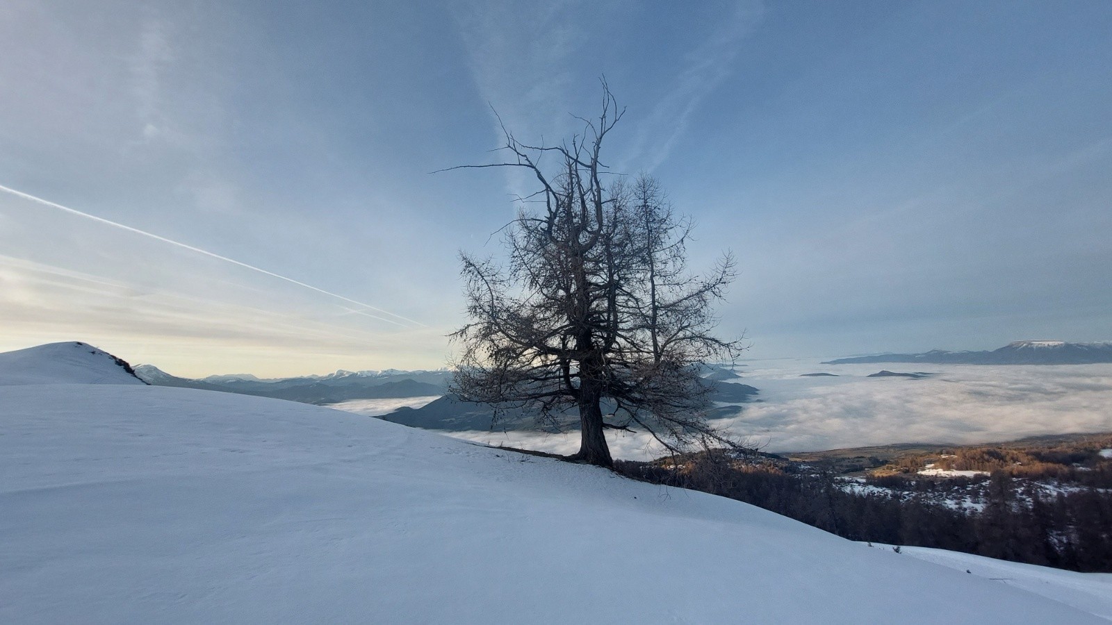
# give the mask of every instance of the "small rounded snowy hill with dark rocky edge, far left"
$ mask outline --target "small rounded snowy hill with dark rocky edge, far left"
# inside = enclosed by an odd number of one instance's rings
[[[0,354],[0,386],[24,384],[146,384],[123,360],[76,341]]]

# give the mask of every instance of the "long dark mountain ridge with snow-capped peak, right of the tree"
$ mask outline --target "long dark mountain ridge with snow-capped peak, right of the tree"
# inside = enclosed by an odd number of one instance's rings
[[[992,351],[945,351],[881,354],[827,360],[824,365],[868,363],[929,363],[936,365],[1091,365],[1112,363],[1112,341],[1066,343],[1063,340],[1017,340]]]

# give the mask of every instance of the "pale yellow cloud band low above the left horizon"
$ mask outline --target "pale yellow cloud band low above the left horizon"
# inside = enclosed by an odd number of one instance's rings
[[[182,375],[291,375],[407,366],[405,359],[411,367],[429,366],[443,359],[441,329],[374,331],[342,314],[252,306],[222,297],[218,282],[210,287],[214,297],[170,292],[0,256],[6,323],[0,350],[85,340]],[[197,355],[203,355],[206,369],[196,368]],[[261,370],[260,363],[268,361],[274,370]]]

